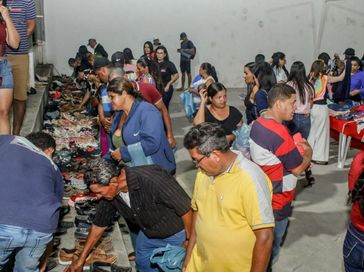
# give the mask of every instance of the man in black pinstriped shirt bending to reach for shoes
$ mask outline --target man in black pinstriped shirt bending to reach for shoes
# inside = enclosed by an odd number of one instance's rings
[[[110,179],[109,185],[93,184],[90,189],[102,200],[86,244],[66,272],[80,271],[116,214],[140,228],[135,250],[139,271],[151,271],[150,256],[154,249],[167,244],[188,245],[191,200],[173,176],[161,167],[126,167],[119,176]]]

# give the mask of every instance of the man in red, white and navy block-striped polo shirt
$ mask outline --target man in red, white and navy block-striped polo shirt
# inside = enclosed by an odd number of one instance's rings
[[[250,133],[252,160],[258,164],[273,185],[273,213],[275,219],[271,264],[279,254],[286,232],[297,177],[311,162],[312,149],[305,141],[298,143],[301,155],[287,127],[282,123],[292,120],[295,111],[295,90],[285,84],[275,85],[268,93],[268,110],[253,124]]]

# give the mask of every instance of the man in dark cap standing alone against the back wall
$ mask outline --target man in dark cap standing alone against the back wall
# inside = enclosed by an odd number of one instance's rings
[[[185,87],[185,79],[186,73],[188,77],[188,86],[191,85],[192,76],[191,76],[191,60],[196,55],[196,47],[194,46],[193,42],[187,38],[187,34],[182,32],[180,34],[181,48],[177,49],[177,52],[181,54],[181,74],[182,74],[182,83],[180,90],[183,90]]]

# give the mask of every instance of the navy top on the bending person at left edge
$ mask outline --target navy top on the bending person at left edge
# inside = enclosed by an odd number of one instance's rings
[[[0,224],[44,233],[57,229],[63,181],[58,167],[19,136],[0,136]]]

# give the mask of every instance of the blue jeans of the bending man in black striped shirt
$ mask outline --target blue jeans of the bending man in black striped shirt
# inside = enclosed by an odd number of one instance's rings
[[[165,247],[167,244],[181,246],[186,240],[186,232],[182,230],[164,239],[150,239],[142,231],[139,231],[136,240],[136,264],[140,272],[156,272],[157,267],[150,264],[150,256],[156,248]]]

